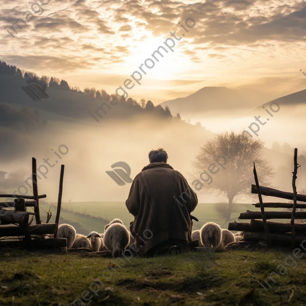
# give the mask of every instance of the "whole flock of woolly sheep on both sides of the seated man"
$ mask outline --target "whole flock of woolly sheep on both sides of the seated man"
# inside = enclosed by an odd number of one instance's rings
[[[110,250],[113,258],[119,257],[126,247],[135,242],[135,238],[120,219],[114,219],[107,224],[104,233],[91,232],[88,236],[77,234],[70,224],[61,224],[58,226],[57,237],[67,238],[68,248],[90,248],[95,252]],[[205,246],[211,252],[242,238],[241,232],[234,235],[214,222],[208,222],[200,230],[193,231],[191,237],[192,241],[198,240],[199,246]]]

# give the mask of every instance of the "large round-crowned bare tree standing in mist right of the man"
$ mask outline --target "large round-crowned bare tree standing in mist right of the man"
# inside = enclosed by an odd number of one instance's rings
[[[233,131],[218,134],[200,148],[193,162],[193,183],[204,187],[202,192],[217,191],[228,198],[227,207],[224,204],[215,207],[226,222],[231,219],[234,197],[250,193],[254,183],[253,162],[260,185],[270,186],[275,173],[271,164],[263,158],[263,148],[263,141],[248,135],[241,138]]]

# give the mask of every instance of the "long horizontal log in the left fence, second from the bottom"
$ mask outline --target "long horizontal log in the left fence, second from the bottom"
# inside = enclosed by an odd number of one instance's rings
[[[19,226],[0,226],[0,237],[24,236],[25,231],[30,235],[54,234],[55,228],[55,223],[30,225],[26,230]]]

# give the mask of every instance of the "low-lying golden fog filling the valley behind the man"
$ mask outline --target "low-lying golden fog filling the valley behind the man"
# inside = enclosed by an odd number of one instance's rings
[[[19,147],[17,145],[20,150],[19,158],[10,158],[8,150],[6,160],[1,160],[0,171],[8,172],[9,180],[0,183],[0,190],[13,192],[19,185],[25,185],[24,180],[31,174],[31,158],[35,157],[38,167],[45,165],[48,169],[41,167],[42,172],[48,171],[47,178],[38,173],[42,177],[38,181],[39,194],[46,193],[47,201],[57,201],[61,163],[65,164],[63,201],[125,201],[131,184],[119,186],[105,171],[112,170],[113,163],[123,161],[131,167],[133,179],[149,163],[148,152],[158,147],[167,151],[170,165],[180,171],[191,185],[192,180],[188,173],[192,171],[191,162],[198,154],[199,148],[215,136],[213,133],[231,130],[240,132],[243,128],[248,129],[250,123],[256,122],[254,116],[262,116],[262,122],[269,118],[264,110],[253,110],[253,113],[253,117],[243,118],[235,118],[233,114],[228,117],[224,114],[210,114],[188,118],[192,124],[200,121],[205,128],[196,128],[175,120],[161,121],[151,118],[121,121],[106,118],[100,122],[92,119],[86,124],[48,121],[46,129],[32,133],[27,139],[28,151],[24,148],[25,144]],[[269,149],[275,141],[279,144],[287,142],[291,147],[297,147],[298,153],[302,153],[302,150],[306,150],[305,114],[305,106],[281,106],[265,125],[259,124],[258,139],[265,141]],[[60,145],[69,149],[67,154],[61,154],[62,159],[54,154],[54,151],[59,153]],[[66,152],[65,147],[61,147],[61,150]],[[267,158],[277,172],[273,186],[291,191],[293,152],[269,152]],[[52,167],[43,162],[43,159],[47,158]],[[287,165],[283,165],[284,161]],[[288,169],[284,170],[283,166]],[[298,170],[297,189],[305,188],[306,185],[305,181],[301,181],[301,177],[299,180],[299,172],[305,171],[304,167],[306,168],[306,164],[301,165]],[[219,175],[222,175],[222,172]],[[29,190],[28,195],[30,194],[32,192]],[[224,198],[214,194],[199,194],[199,200],[219,202]],[[250,201],[241,198],[240,202],[244,200]]]

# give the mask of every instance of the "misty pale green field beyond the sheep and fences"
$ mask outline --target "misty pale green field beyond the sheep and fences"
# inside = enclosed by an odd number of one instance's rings
[[[56,205],[55,203],[51,203]],[[40,204],[44,210],[48,211],[51,204]],[[214,209],[215,203],[199,203],[192,215],[199,219],[199,222],[193,222],[193,230],[199,230],[206,222],[215,222],[220,226],[226,228],[225,219],[220,219]],[[55,218],[56,206],[51,206],[51,211]],[[114,218],[119,218],[123,221],[125,226],[129,227],[130,222],[134,217],[129,213],[125,207],[125,202],[69,202],[62,203],[62,218],[70,220],[70,222],[80,223],[90,233],[91,231],[101,232],[104,226]],[[259,208],[254,207],[252,204],[237,204],[235,211],[232,213],[232,221],[238,220],[241,212],[247,210],[257,211]],[[273,211],[275,208],[265,208],[265,211]],[[78,212],[75,214],[75,212]],[[41,213],[42,214],[42,213]],[[46,215],[46,213],[44,213]],[[98,217],[98,218],[91,218]],[[102,219],[99,219],[102,218]],[[60,220],[61,221],[61,220]],[[287,220],[273,220],[280,222],[287,222]],[[242,222],[249,222],[249,220],[242,220]],[[102,231],[102,232],[103,232]],[[81,233],[81,232],[80,232]],[[84,233],[86,234],[86,233]]]

